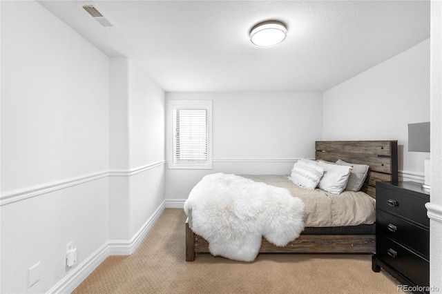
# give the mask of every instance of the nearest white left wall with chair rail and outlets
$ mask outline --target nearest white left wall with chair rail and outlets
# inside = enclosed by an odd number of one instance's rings
[[[2,293],[49,291],[108,240],[108,72],[108,57],[39,3],[2,1]]]

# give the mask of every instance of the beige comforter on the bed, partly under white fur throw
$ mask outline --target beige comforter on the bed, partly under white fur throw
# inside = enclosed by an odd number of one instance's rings
[[[287,188],[291,195],[305,204],[305,226],[357,226],[373,224],[375,200],[363,192],[343,192],[340,195],[323,190],[306,190],[296,186],[287,175],[242,175],[255,182]]]

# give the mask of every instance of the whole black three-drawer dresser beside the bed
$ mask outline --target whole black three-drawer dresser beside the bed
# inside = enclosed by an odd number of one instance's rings
[[[376,182],[376,254],[372,269],[383,268],[414,293],[430,286],[430,191],[414,182]]]

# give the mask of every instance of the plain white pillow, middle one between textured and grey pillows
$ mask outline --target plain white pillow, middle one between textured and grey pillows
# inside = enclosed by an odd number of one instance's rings
[[[324,161],[318,161],[318,166],[322,166],[325,170],[318,188],[332,194],[343,193],[353,168],[351,166],[327,164]]]

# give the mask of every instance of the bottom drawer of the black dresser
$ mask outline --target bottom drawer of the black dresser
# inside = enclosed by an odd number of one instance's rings
[[[430,262],[383,235],[376,235],[376,255],[419,286],[430,286]]]

